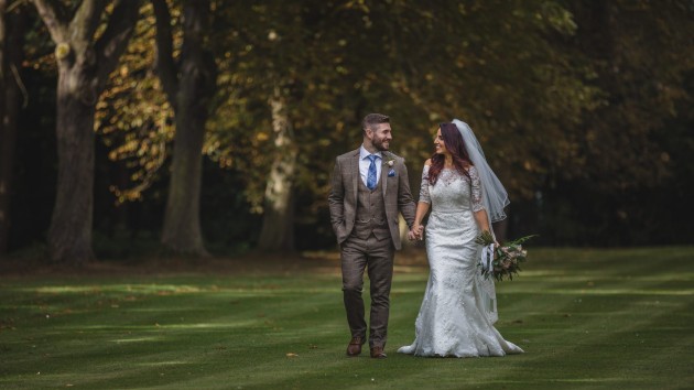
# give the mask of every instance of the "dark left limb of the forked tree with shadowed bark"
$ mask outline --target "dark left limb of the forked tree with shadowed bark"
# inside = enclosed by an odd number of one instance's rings
[[[178,69],[173,58],[173,36],[171,32],[171,13],[166,0],[152,0],[156,19],[156,72],[169,102],[176,110],[178,93]]]

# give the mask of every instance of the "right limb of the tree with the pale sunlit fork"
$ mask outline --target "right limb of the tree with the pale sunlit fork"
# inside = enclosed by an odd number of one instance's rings
[[[128,47],[128,42],[130,42],[130,37],[134,32],[139,11],[140,0],[119,1],[109,18],[106,31],[95,44],[99,91],[104,89],[110,73]]]

